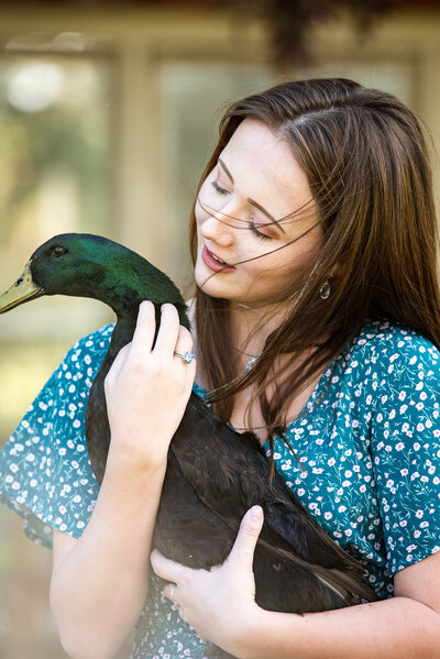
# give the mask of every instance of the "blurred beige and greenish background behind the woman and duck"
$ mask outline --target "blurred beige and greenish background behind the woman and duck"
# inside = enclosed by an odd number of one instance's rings
[[[43,241],[85,231],[189,293],[187,218],[222,108],[316,76],[406,102],[439,189],[439,0],[0,1],[0,289]],[[0,446],[69,345],[111,320],[62,297],[1,317]],[[50,570],[51,552],[0,509],[0,659],[66,657]]]

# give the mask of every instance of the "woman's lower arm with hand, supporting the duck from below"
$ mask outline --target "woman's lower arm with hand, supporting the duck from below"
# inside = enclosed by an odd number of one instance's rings
[[[395,576],[395,597],[324,613],[273,613],[255,604],[253,552],[261,509],[242,520],[221,567],[191,570],[152,553],[155,572],[175,583],[182,617],[240,659],[440,658],[440,552]]]

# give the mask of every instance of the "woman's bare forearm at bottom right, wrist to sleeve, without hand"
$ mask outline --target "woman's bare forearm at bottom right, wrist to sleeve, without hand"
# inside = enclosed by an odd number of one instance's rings
[[[262,612],[241,659],[438,659],[440,553],[402,572],[395,597],[305,616]],[[250,638],[250,637],[249,637]],[[274,648],[274,651],[268,649]]]

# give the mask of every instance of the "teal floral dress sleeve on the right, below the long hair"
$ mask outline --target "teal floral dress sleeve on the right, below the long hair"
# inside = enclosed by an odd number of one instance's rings
[[[377,360],[371,448],[393,575],[440,550],[440,354],[403,330]]]

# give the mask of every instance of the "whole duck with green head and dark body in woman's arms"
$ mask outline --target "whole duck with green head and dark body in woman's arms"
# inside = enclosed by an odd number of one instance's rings
[[[103,383],[131,341],[139,305],[173,304],[189,329],[186,304],[170,278],[132,250],[88,233],[55,235],[34,251],[23,274],[0,296],[0,314],[44,295],[89,297],[116,314],[110,347],[90,388],[85,432],[90,464],[102,483],[110,446]],[[372,602],[361,562],[309,515],[283,477],[271,473],[257,437],[220,420],[193,392],[169,444],[153,546],[185,565],[224,561],[245,512],[258,504],[264,525],[255,548],[255,601],[266,609],[314,613]],[[212,646],[216,659],[230,657]]]

